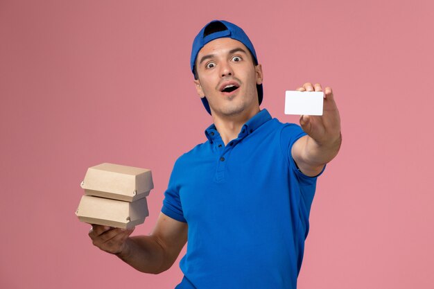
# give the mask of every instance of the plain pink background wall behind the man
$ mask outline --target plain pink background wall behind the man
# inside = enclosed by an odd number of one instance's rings
[[[333,87],[342,150],[318,181],[299,288],[433,288],[433,2],[0,1],[0,288],[173,288],[94,247],[86,169],[152,168],[148,234],[175,159],[211,123],[189,71],[211,19],[245,29],[262,107]],[[182,252],[182,255],[184,252]],[[179,261],[179,260],[178,260]]]

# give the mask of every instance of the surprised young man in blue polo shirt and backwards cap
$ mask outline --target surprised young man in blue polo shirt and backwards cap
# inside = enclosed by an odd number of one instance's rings
[[[316,179],[340,148],[331,88],[324,114],[280,123],[263,98],[248,36],[211,21],[193,42],[191,70],[214,124],[177,159],[150,236],[94,225],[94,245],[142,272],[163,272],[184,247],[177,288],[296,288]],[[322,91],[306,82],[298,90]]]

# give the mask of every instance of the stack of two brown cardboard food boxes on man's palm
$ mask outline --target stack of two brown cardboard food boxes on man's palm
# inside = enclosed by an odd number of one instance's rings
[[[146,168],[108,163],[92,166],[81,187],[85,195],[76,215],[82,222],[130,229],[149,215],[146,196],[154,184]]]

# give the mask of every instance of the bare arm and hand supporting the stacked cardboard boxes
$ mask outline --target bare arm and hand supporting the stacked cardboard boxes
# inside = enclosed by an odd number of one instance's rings
[[[158,274],[171,268],[187,240],[187,225],[160,213],[149,236],[133,236],[125,230],[92,225],[89,237],[96,247],[116,254],[125,263],[146,273]]]

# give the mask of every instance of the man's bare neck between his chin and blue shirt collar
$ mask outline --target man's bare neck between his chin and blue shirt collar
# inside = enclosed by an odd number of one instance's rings
[[[232,141],[232,139],[236,139],[238,137],[243,125],[249,119],[252,119],[252,117],[255,116],[259,111],[259,107],[257,107],[257,110],[252,110],[245,114],[239,114],[236,116],[213,116],[214,125],[216,125],[216,129],[220,134],[223,143],[225,143],[225,146],[227,143],[229,143],[229,141]]]

